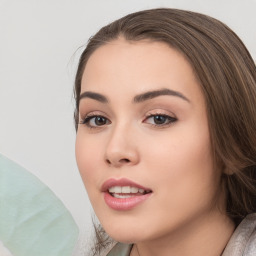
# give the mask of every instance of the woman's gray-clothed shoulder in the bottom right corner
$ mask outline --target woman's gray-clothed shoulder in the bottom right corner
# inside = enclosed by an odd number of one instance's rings
[[[256,213],[249,214],[231,236],[223,256],[256,255]]]

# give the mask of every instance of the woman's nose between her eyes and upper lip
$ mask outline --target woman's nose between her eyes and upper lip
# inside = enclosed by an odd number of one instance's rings
[[[105,152],[105,161],[109,166],[120,168],[139,162],[135,133],[131,129],[117,127],[110,135]]]

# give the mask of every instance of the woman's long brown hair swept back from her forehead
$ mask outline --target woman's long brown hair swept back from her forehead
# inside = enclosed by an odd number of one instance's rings
[[[213,154],[223,168],[227,213],[256,211],[256,67],[237,35],[220,21],[190,11],[152,9],[101,28],[81,55],[75,78],[78,126],[81,78],[91,54],[118,37],[165,42],[190,62],[207,107]]]

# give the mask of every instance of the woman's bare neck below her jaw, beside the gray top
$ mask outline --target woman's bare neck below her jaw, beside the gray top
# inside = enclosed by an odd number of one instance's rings
[[[220,256],[233,232],[234,223],[227,216],[201,216],[178,231],[136,243],[131,256]]]

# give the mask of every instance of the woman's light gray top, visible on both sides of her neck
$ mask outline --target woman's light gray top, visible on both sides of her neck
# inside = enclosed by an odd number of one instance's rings
[[[107,256],[129,256],[131,249],[132,245],[117,243]],[[239,224],[222,256],[256,256],[256,213]]]

